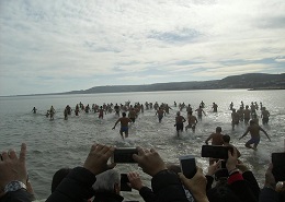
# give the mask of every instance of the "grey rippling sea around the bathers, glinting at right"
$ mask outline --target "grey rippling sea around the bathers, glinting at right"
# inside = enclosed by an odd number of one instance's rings
[[[174,120],[178,104],[191,105],[198,108],[201,102],[205,103],[206,116],[196,126],[196,132],[184,131],[176,135]],[[247,130],[240,122],[235,130],[231,129],[232,102],[235,108],[251,102],[262,103],[270,111],[267,126],[261,127],[271,136],[271,142],[261,132],[261,142],[258,151],[244,147],[250,139],[248,134],[239,138]],[[75,110],[77,104],[130,104],[164,103],[172,109],[159,123],[153,109],[139,114],[135,123],[129,128],[129,138],[122,140],[119,126],[112,130],[117,117],[114,112],[106,114],[104,119],[98,114],[81,111],[75,116],[73,111],[68,120],[64,119],[64,109],[67,105]],[[285,91],[248,91],[248,90],[198,90],[198,91],[163,91],[163,92],[132,92],[132,93],[102,93],[102,94],[72,94],[72,95],[41,95],[41,96],[10,96],[0,97],[0,151],[14,148],[18,153],[21,143],[27,145],[26,166],[36,199],[44,201],[50,194],[53,175],[60,168],[82,166],[93,143],[115,145],[117,147],[155,148],[167,164],[178,164],[179,157],[194,155],[197,166],[207,171],[208,158],[201,157],[201,148],[208,135],[216,127],[221,127],[224,134],[231,136],[231,143],[241,152],[240,159],[254,174],[260,186],[264,182],[264,174],[271,162],[271,153],[283,152],[285,148]],[[218,111],[213,112],[213,103],[218,105]],[[54,120],[45,116],[54,106],[56,114]],[[36,114],[32,112],[37,108]],[[186,110],[181,111],[186,117]],[[196,115],[196,114],[195,114]],[[260,117],[261,111],[258,110]],[[118,164],[119,173],[137,171],[142,182],[150,186],[151,177],[144,174],[137,164]],[[142,201],[136,190],[122,192],[127,200]]]

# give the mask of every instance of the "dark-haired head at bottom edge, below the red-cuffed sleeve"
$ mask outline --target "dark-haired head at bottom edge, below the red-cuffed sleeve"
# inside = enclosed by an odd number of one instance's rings
[[[207,191],[210,202],[241,202],[228,186],[218,186]]]

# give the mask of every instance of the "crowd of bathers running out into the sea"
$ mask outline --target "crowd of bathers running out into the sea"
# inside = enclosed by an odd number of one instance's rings
[[[197,109],[193,110],[191,104],[180,103],[176,104],[174,102],[173,105],[175,108],[179,108],[179,111],[176,111],[176,116],[174,119],[174,127],[176,128],[176,135],[180,136],[181,132],[185,129],[191,129],[193,133],[195,133],[196,124],[198,121],[202,121],[203,116],[206,116],[206,112],[204,111],[205,103],[202,100],[200,103],[200,106]],[[216,103],[213,103],[212,109],[213,112],[217,112],[218,105]],[[181,115],[181,111],[186,110],[186,118]],[[251,102],[251,105],[246,105],[243,102],[240,103],[239,109],[236,110],[233,107],[233,103],[231,102],[229,105],[229,110],[231,110],[231,126],[232,130],[235,130],[235,127],[239,123],[243,122],[248,128],[246,132],[241,135],[240,139],[246,136],[248,133],[250,133],[251,139],[246,143],[246,147],[256,150],[258,144],[260,143],[260,132],[263,132],[267,139],[271,141],[269,134],[266,131],[260,127],[259,124],[259,116],[258,110],[261,109],[261,119],[263,124],[269,123],[269,117],[270,112],[267,109],[260,103],[260,106],[256,102]],[[36,112],[36,108],[33,108],[33,112]],[[102,106],[99,106],[96,104],[92,104],[92,107],[90,108],[89,104],[83,105],[81,102],[76,105],[75,108],[75,115],[79,116],[79,112],[86,112],[89,114],[93,111],[94,114],[98,114],[99,119],[103,119],[104,115],[115,112],[115,116],[118,117],[116,120],[114,127],[112,129],[115,129],[118,123],[121,123],[119,134],[122,139],[128,138],[128,129],[129,123],[135,123],[136,119],[138,118],[139,114],[144,114],[145,110],[155,110],[156,116],[158,117],[158,121],[161,122],[162,118],[170,112],[170,110],[173,110],[168,104],[161,103],[158,104],[156,102],[155,104],[146,102],[144,105],[140,103],[135,103],[134,105],[130,104],[130,102],[125,102],[125,104],[103,104]],[[64,110],[65,119],[68,119],[68,116],[71,115],[71,107],[69,105],[66,106]],[[50,120],[54,119],[56,110],[52,106],[49,110],[47,110],[46,116],[50,118]],[[122,117],[121,117],[122,112]],[[197,117],[193,115],[193,112],[197,114]],[[184,122],[187,122],[184,127]],[[215,141],[214,141],[215,142]]]

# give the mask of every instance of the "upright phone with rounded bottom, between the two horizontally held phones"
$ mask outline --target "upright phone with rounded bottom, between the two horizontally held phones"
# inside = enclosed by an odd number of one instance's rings
[[[193,178],[197,171],[195,157],[193,155],[180,156],[179,161],[183,175],[189,179]]]

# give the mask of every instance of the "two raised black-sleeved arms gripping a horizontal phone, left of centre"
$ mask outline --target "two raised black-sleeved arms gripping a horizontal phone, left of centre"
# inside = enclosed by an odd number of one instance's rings
[[[157,201],[187,202],[178,175],[167,169],[159,154],[152,148],[137,150],[138,154],[134,154],[133,157],[142,170],[152,177],[151,187]],[[90,199],[93,195],[92,185],[96,181],[96,175],[110,168],[106,163],[113,152],[113,146],[92,145],[83,167],[73,168],[46,202],[78,202]],[[111,165],[112,168],[114,166]]]

